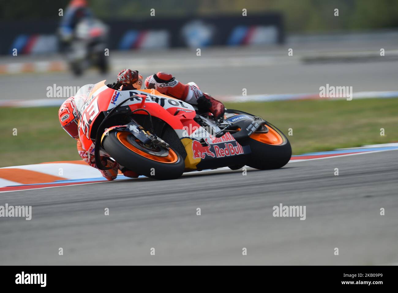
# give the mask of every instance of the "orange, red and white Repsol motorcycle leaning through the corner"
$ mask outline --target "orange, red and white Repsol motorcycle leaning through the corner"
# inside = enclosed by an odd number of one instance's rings
[[[80,140],[99,169],[109,169],[103,157],[140,175],[176,179],[184,171],[226,166],[276,169],[291,157],[286,136],[263,118],[228,109],[216,120],[157,90],[121,88],[101,81],[76,93],[87,97]]]

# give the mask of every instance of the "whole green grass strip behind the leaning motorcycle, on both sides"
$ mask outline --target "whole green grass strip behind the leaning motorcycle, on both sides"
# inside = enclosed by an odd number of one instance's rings
[[[293,154],[398,141],[398,99],[227,103],[262,116],[288,136]],[[0,108],[0,167],[80,159],[58,108]],[[17,136],[13,136],[13,129]],[[385,136],[380,136],[384,128]]]

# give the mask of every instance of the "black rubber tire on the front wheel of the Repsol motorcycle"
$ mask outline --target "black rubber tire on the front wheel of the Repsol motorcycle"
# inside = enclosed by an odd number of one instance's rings
[[[184,172],[184,160],[178,151],[175,151],[172,147],[170,147],[171,151],[169,151],[169,153],[172,156],[176,156],[176,161],[169,163],[156,161],[131,150],[129,147],[137,149],[133,144],[126,147],[123,144],[126,143],[126,141],[122,143],[117,135],[119,132],[120,131],[109,132],[109,135],[105,136],[103,139],[103,147],[120,165],[140,175],[160,180],[176,179]],[[134,138],[133,134],[126,134],[126,136],[128,140]]]

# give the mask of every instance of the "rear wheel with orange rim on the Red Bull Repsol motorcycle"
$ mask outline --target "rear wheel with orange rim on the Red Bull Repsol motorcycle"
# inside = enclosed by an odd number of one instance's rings
[[[252,168],[266,170],[278,169],[289,162],[292,148],[286,136],[275,126],[267,122],[267,133],[254,133],[239,142],[242,146],[250,146],[247,165]]]

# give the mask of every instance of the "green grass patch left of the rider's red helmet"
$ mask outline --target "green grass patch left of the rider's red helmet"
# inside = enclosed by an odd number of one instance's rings
[[[0,108],[0,167],[80,159],[76,141],[60,126],[58,109]]]

